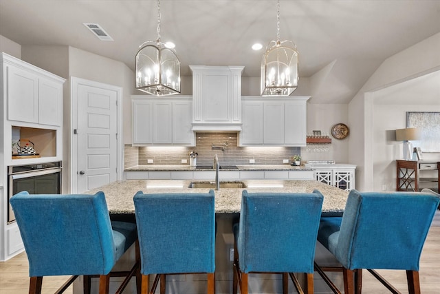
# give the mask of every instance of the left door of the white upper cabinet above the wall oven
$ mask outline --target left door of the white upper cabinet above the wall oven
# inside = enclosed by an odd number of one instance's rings
[[[38,123],[38,76],[10,65],[7,76],[8,120]]]

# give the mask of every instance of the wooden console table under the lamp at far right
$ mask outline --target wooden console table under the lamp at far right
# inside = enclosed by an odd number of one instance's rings
[[[429,188],[439,192],[440,161],[396,160],[396,172],[396,191]]]

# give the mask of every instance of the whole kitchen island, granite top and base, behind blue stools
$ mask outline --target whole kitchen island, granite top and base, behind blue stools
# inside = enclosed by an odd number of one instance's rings
[[[107,207],[112,218],[124,218],[134,220],[133,196],[137,191],[144,193],[206,193],[209,188],[189,188],[190,183],[195,180],[122,180],[111,182],[97,189],[87,191],[96,193],[103,191],[107,200]],[[199,182],[199,181],[198,181]],[[209,182],[203,180],[203,182]],[[229,181],[231,182],[231,181]],[[279,193],[310,193],[318,189],[324,196],[322,213],[329,215],[340,215],[344,211],[348,191],[326,185],[316,180],[241,180],[246,187],[243,188],[221,188],[214,190],[215,212],[217,222],[217,235],[215,240],[215,266],[216,266],[216,293],[232,293],[232,249],[234,248],[234,235],[232,224],[239,219],[241,208],[241,193],[244,189],[252,192],[279,192]],[[179,242],[179,240],[176,240]],[[164,244],[166,246],[166,244]],[[322,249],[317,247],[317,251]],[[318,255],[322,253],[317,252]],[[129,249],[129,254],[122,258],[123,265],[127,267],[134,260],[134,250]],[[326,256],[325,260],[329,260]],[[118,266],[118,265],[117,265]],[[256,277],[256,276],[255,276]],[[302,276],[300,276],[300,279]],[[170,275],[167,277],[167,289],[173,289],[173,293],[198,294],[206,293],[206,275]],[[315,289],[328,291],[327,285],[319,275],[315,275]],[[281,275],[259,275],[250,277],[250,293],[281,293]],[[111,282],[111,288],[117,283]],[[81,284],[74,286],[74,294],[81,293]],[[97,288],[98,283],[92,283]],[[292,287],[292,288],[290,288]],[[289,293],[292,293],[293,286],[289,283]],[[135,283],[131,281],[126,293],[136,293]]]

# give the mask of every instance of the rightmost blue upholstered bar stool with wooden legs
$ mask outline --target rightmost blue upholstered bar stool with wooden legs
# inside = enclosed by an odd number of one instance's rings
[[[345,293],[361,293],[362,269],[392,293],[399,291],[374,269],[406,270],[409,293],[420,293],[420,254],[439,201],[432,193],[351,190],[342,218],[322,218],[318,241],[342,264]],[[324,273],[337,267],[316,269],[338,293]]]

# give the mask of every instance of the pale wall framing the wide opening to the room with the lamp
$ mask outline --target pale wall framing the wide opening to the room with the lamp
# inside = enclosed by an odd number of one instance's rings
[[[440,33],[403,50],[380,65],[349,103],[349,161],[358,165],[356,188],[373,191],[374,99],[373,92],[440,70]],[[393,160],[393,158],[389,158]]]

